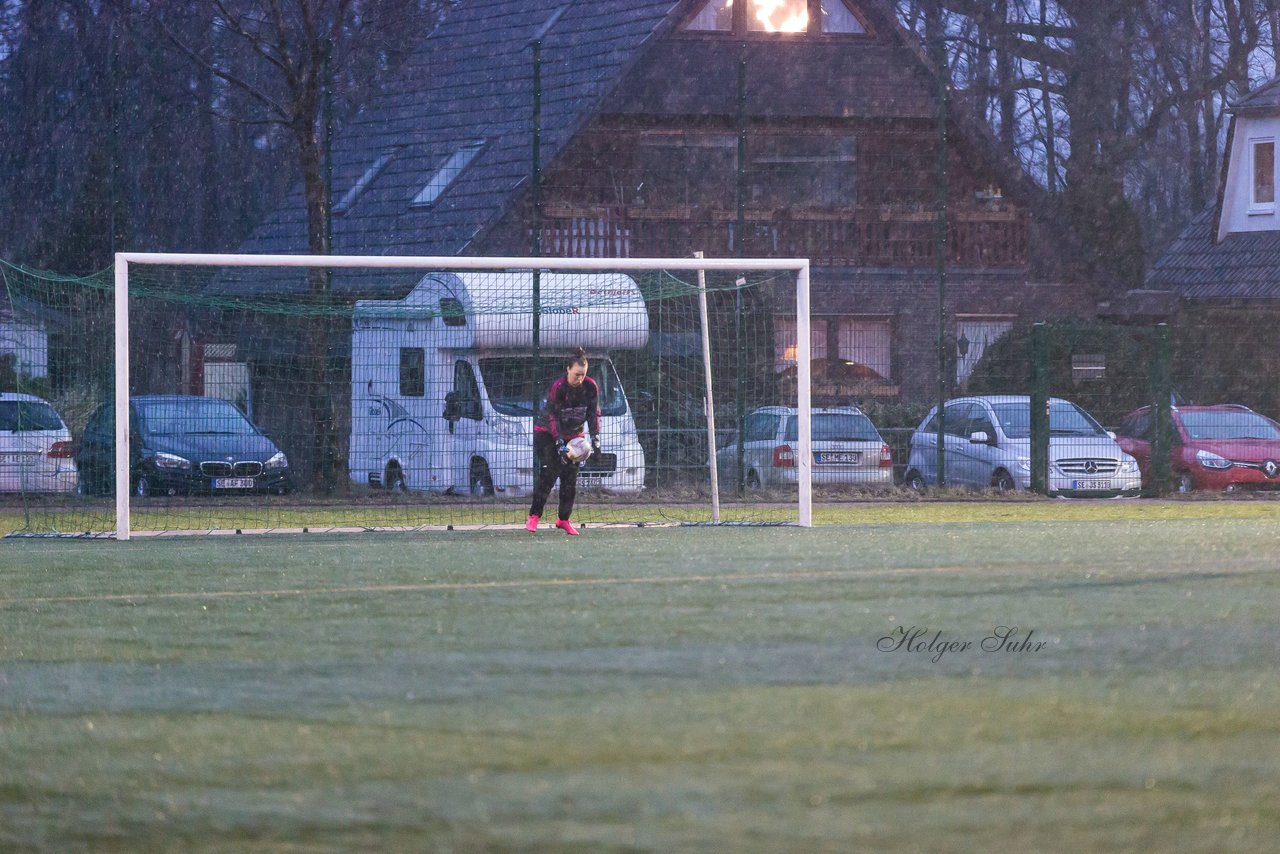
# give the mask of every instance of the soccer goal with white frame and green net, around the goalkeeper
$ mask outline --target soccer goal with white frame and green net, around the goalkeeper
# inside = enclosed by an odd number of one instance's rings
[[[575,522],[812,524],[805,260],[124,252],[26,287],[78,401],[74,494],[27,533],[520,528],[579,347]]]

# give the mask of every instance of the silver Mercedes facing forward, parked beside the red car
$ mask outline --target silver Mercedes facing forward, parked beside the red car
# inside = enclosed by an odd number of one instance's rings
[[[1138,461],[1115,437],[1070,401],[1048,403],[1048,490],[1053,495],[1137,495],[1142,490]],[[961,397],[942,411],[946,439],[946,485],[1029,489],[1030,398],[1025,394]],[[915,489],[938,483],[937,407],[911,435],[904,483]]]

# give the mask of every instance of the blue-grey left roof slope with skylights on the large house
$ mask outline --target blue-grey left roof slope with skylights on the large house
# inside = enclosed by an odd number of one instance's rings
[[[396,156],[346,216],[333,218],[333,251],[349,255],[458,255],[498,220],[530,172],[532,51],[529,41],[568,5],[543,41],[543,164],[550,163],[580,123],[617,83],[622,70],[678,5],[677,0],[467,0],[449,13],[406,60],[397,83],[361,110],[334,142],[334,198],[378,155]],[[461,145],[488,145],[428,210],[408,201]],[[246,241],[242,252],[305,254],[301,188]],[[407,274],[381,274],[378,284],[340,280],[334,291],[407,291]],[[264,288],[260,271],[229,270],[223,293],[301,291],[282,274]],[[416,278],[416,277],[411,277]]]

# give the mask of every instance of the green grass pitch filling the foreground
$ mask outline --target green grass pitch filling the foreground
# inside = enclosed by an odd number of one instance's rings
[[[0,850],[1277,850],[1280,503],[818,519],[3,542]]]

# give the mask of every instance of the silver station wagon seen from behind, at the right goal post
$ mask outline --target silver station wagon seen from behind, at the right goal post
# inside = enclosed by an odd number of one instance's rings
[[[879,430],[852,406],[810,410],[813,483],[890,484],[893,461]],[[742,469],[748,487],[796,483],[799,416],[795,407],[764,406],[746,416]],[[737,479],[737,442],[719,448],[722,480]]]

